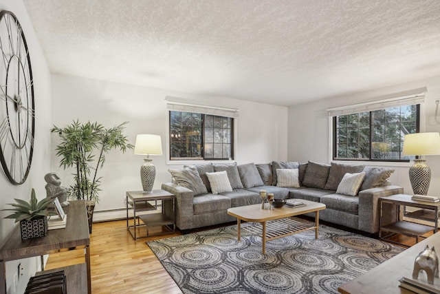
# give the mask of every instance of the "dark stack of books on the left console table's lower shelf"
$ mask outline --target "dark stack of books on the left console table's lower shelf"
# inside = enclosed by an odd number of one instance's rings
[[[31,277],[26,287],[25,294],[66,294],[66,277],[64,271],[47,273]]]

